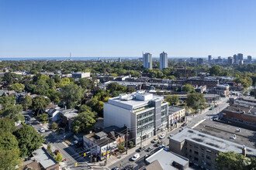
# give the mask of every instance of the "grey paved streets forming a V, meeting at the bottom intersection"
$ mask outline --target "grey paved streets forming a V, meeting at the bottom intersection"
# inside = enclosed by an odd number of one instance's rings
[[[208,110],[208,109],[204,110],[202,111],[202,114],[196,114],[195,116],[188,116],[186,118],[187,127],[194,128],[195,126],[200,124],[202,121],[206,119],[211,119],[213,116],[216,116],[221,110],[223,110],[223,108],[227,107],[228,105],[227,100],[228,100],[228,97],[220,98],[220,100],[216,103],[216,104],[220,104],[219,107],[215,107],[213,110]],[[36,118],[32,116],[31,112],[28,111],[23,114],[25,117],[30,117],[29,123],[32,124],[32,126],[36,129],[36,131],[39,130],[40,128],[44,128],[46,130],[46,132],[44,132],[43,135],[45,135],[47,142],[50,142],[50,144],[52,145],[52,150],[54,151],[55,149],[57,149],[61,151],[61,155],[63,156],[63,158],[67,159],[67,161],[61,162],[61,167],[66,167],[67,169],[89,169],[90,168],[87,162],[85,161],[85,158],[82,158],[81,155],[78,154],[78,152],[74,151],[74,148],[64,143],[64,141],[62,140],[63,135],[62,136],[56,135],[54,132],[48,130],[47,124],[40,124],[36,120]],[[185,127],[182,127],[182,128],[185,128]],[[162,139],[162,141],[163,141],[163,145],[165,145],[166,148],[168,148],[168,144],[169,144],[169,141],[168,141],[169,134],[177,134],[182,128],[175,128],[171,131],[163,132],[163,134],[166,134],[166,137]],[[150,143],[152,139],[153,138],[150,138],[147,141],[144,141],[142,145],[144,145],[146,149],[148,147],[154,147],[154,144]],[[107,160],[107,166],[99,166],[99,163],[97,163],[95,165],[90,164],[92,165],[91,168],[111,169],[114,167],[119,167],[119,165],[121,164],[123,167],[125,167],[126,165],[133,165],[134,169],[138,169],[144,165],[145,155],[150,154],[146,151],[141,151],[140,158],[136,162],[131,161],[130,158],[132,158],[133,155],[137,153],[136,150],[139,147],[140,145],[128,150],[128,155],[126,155],[126,152],[123,153],[121,155],[121,158],[116,158],[114,156],[111,156]],[[157,149],[158,149],[157,147],[154,147],[154,150],[151,152],[157,151]],[[78,162],[77,167],[75,167],[76,162]],[[100,162],[100,164],[103,164],[103,162]]]

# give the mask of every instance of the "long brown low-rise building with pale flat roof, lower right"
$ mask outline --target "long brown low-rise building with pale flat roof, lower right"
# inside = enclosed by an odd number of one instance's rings
[[[238,154],[245,151],[243,145],[190,128],[185,128],[175,134],[169,142],[170,151],[189,158],[189,161],[194,165],[206,169],[216,169],[216,155],[220,151],[234,151]],[[256,155],[256,149],[254,148],[246,148],[245,152],[245,155]]]

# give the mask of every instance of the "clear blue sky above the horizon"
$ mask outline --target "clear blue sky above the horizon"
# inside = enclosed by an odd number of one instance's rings
[[[256,57],[255,0],[0,0],[0,57]]]

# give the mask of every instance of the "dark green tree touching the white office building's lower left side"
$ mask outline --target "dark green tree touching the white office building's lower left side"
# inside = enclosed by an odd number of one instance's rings
[[[74,121],[71,124],[72,131],[76,134],[78,132],[88,132],[94,128],[96,112],[85,111],[78,114],[78,117],[74,117]]]

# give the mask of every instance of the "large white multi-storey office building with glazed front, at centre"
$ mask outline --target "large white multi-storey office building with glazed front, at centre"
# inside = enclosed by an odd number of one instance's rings
[[[104,104],[104,126],[126,125],[135,145],[168,127],[168,103],[164,97],[145,93],[120,94]]]

